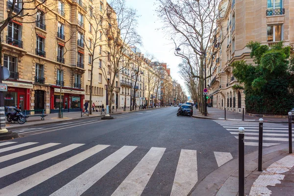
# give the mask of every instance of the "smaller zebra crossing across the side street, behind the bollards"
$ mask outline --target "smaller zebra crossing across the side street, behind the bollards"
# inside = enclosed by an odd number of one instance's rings
[[[216,120],[226,130],[228,130],[235,138],[238,139],[238,128],[245,128],[245,146],[258,146],[259,123],[258,122],[228,122]],[[288,124],[282,125],[277,123],[263,123],[263,146],[270,147],[282,143],[287,143]]]

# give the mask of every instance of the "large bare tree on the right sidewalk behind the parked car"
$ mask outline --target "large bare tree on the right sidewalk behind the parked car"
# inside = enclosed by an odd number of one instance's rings
[[[218,6],[221,0],[158,0],[157,12],[164,22],[164,27],[171,29],[171,35],[175,44],[175,55],[186,60],[186,64],[193,70],[191,55],[196,56],[198,73],[191,73],[198,78],[198,88],[206,87],[206,54],[211,44],[217,43],[216,28],[220,16]],[[222,27],[220,27],[222,31]],[[224,34],[224,33],[222,33]],[[223,36],[225,37],[225,36]],[[177,44],[178,43],[178,44]],[[181,47],[181,48],[180,48]],[[218,48],[219,49],[219,48]],[[215,52],[215,51],[213,51]],[[210,72],[211,73],[211,72]],[[206,102],[206,98],[200,96],[201,103]],[[202,112],[206,114],[206,104],[202,104]]]

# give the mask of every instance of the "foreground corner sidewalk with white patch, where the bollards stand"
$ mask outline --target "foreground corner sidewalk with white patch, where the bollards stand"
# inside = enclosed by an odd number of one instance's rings
[[[293,196],[294,154],[288,145],[264,148],[262,172],[258,151],[245,155],[245,196]],[[191,196],[238,196],[239,162],[235,158],[206,176]]]

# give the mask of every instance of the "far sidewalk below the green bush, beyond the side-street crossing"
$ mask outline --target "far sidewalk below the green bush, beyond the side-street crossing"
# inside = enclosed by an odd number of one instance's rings
[[[224,120],[224,110],[220,110],[217,108],[207,107],[207,116],[202,115],[198,109],[194,108],[194,115],[195,118],[201,119],[212,119],[212,120]],[[242,121],[243,114],[235,113],[226,111],[226,120],[229,121]],[[262,118],[264,122],[271,122],[271,123],[288,123],[287,118],[270,118],[270,117],[252,117],[249,115],[244,115],[245,121],[256,121]]]

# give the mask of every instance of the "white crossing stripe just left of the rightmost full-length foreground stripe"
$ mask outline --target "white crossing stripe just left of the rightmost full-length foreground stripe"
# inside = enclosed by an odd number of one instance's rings
[[[166,148],[151,147],[111,196],[140,196]]]

